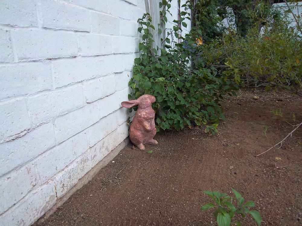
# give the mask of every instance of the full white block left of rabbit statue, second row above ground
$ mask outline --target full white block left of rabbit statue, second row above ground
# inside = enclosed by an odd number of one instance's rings
[[[108,123],[110,122],[110,124]],[[96,124],[89,127],[86,131],[89,147],[94,146],[109,133],[114,131],[117,128],[117,114],[111,113],[106,117],[102,118]]]

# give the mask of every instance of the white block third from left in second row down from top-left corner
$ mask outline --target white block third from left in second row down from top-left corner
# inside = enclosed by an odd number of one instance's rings
[[[96,56],[112,53],[112,37],[108,35],[81,34],[79,35],[80,55]]]

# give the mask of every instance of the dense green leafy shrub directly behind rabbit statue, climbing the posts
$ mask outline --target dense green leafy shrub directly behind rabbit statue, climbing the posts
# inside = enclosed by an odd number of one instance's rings
[[[179,22],[186,27],[183,18],[190,18],[189,14],[182,12],[181,15]],[[150,33],[154,29],[151,22],[149,14],[138,19],[138,31],[143,34],[143,41],[139,44],[141,55],[134,61],[133,77],[129,83],[133,92],[129,99],[143,94],[156,97],[153,108],[158,130],[180,130],[192,123],[217,123],[225,119],[220,102],[237,86],[225,79],[216,67],[205,65],[202,51],[206,48],[196,43],[199,34],[194,32],[183,37],[178,34],[181,28],[175,26],[173,34],[182,42],[170,40],[172,34],[168,33],[165,49],[160,49],[161,54],[157,56]]]

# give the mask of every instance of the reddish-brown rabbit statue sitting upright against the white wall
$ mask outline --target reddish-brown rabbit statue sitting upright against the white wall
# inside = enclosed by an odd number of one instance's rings
[[[156,134],[155,112],[152,108],[154,102],[155,97],[149,94],[140,96],[137,100],[121,102],[121,105],[125,108],[138,105],[138,109],[130,125],[129,137],[131,142],[140,150],[145,150],[144,144],[158,144],[153,139]]]

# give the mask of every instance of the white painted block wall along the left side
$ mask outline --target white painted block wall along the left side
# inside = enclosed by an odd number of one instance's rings
[[[0,1],[0,225],[31,225],[127,144],[120,102],[145,12],[144,0]]]

